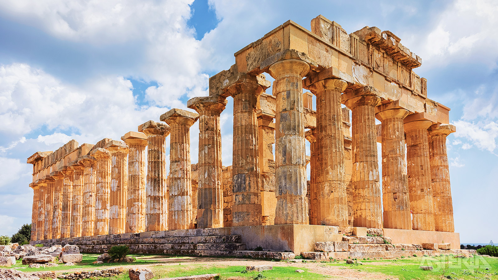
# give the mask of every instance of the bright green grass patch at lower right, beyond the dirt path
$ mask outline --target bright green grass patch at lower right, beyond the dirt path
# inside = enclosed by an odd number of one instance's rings
[[[488,257],[474,257],[459,259],[454,257],[420,257],[411,259],[397,260],[376,260],[361,261],[363,265],[346,265],[345,262],[331,263],[329,266],[347,266],[350,269],[381,273],[389,277],[396,277],[400,280],[432,280],[441,279],[444,273],[444,279],[447,276],[459,280],[475,279],[498,279],[498,259]],[[448,269],[446,269],[448,262]],[[432,266],[433,271],[423,271],[420,266]],[[489,270],[486,270],[488,268]]]

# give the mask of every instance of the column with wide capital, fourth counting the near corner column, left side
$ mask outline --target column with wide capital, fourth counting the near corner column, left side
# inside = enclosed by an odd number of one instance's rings
[[[199,119],[193,112],[171,109],[160,120],[171,128],[169,136],[168,230],[194,227],[192,220],[192,167],[190,127]]]

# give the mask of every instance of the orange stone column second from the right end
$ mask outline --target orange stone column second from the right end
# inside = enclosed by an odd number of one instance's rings
[[[405,118],[406,133],[406,171],[412,229],[434,230],[434,204],[432,201],[431,169],[429,164],[429,143],[427,128],[432,122],[413,114]]]

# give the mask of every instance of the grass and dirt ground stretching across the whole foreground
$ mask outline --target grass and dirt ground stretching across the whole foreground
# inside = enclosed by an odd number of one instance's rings
[[[454,258],[445,257],[407,257],[394,260],[354,260],[363,265],[346,264],[345,260],[309,261],[303,263],[288,263],[256,261],[249,259],[230,258],[193,258],[193,257],[167,257],[152,255],[131,255],[137,259],[136,262],[112,263],[93,265],[98,255],[85,254],[83,263],[77,266],[65,267],[60,265],[55,268],[29,269],[27,266],[16,265],[20,271],[90,271],[95,269],[105,269],[116,266],[133,267],[136,265],[146,266],[154,273],[154,279],[191,276],[201,274],[220,274],[221,279],[245,279],[245,280],[323,280],[323,279],[369,279],[369,280],[498,280],[498,258],[492,257],[471,257]],[[271,264],[273,270],[262,273],[249,272],[241,273],[245,270],[245,265]],[[420,266],[432,266],[433,271],[422,271]],[[295,270],[304,270],[304,273],[296,273]],[[361,275],[361,276],[358,276]],[[127,272],[101,280],[128,280]]]

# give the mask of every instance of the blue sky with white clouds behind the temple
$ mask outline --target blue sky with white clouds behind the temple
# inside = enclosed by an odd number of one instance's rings
[[[207,94],[233,54],[292,19],[318,14],[348,33],[390,30],[422,57],[428,97],[452,110],[448,137],[455,229],[497,239],[498,0],[109,0],[0,2],[0,235],[31,220],[35,151],[120,139]],[[268,77],[269,78],[269,77]],[[232,162],[232,110],[222,114]],[[196,125],[192,162],[197,162]]]

